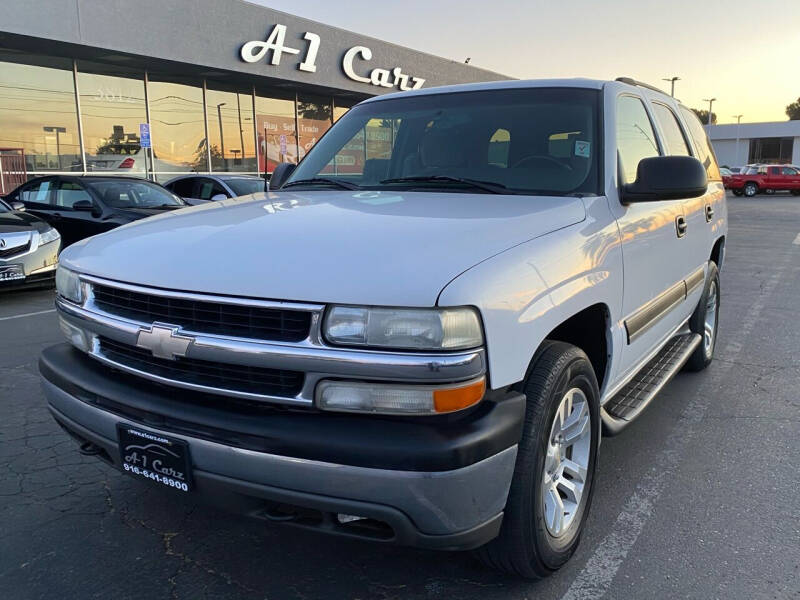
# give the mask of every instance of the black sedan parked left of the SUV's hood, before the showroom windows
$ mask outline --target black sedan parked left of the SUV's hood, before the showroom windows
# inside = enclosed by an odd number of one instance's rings
[[[36,177],[5,197],[21,202],[61,234],[62,247],[125,223],[187,206],[157,183],[137,177]]]

